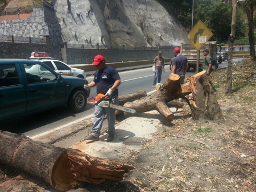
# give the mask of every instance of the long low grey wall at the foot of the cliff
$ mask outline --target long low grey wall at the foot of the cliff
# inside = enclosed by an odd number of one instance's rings
[[[164,58],[174,57],[173,48],[160,49]],[[72,64],[92,64],[96,55],[105,57],[106,62],[152,60],[158,50],[111,50],[111,49],[61,49],[63,61]]]

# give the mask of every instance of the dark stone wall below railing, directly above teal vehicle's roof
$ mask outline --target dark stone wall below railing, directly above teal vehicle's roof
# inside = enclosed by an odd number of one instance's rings
[[[49,52],[51,45],[28,43],[0,43],[0,59],[27,59],[33,51]]]

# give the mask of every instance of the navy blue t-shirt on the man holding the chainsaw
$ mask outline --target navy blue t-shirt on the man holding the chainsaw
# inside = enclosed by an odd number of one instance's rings
[[[114,82],[120,80],[120,76],[112,66],[106,65],[103,70],[96,70],[94,74],[94,83],[97,84],[97,94],[106,94],[110,87],[114,85]],[[118,90],[113,91],[112,97],[118,96]]]

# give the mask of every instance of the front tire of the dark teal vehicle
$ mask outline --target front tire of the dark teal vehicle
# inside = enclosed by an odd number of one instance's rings
[[[76,90],[69,96],[68,108],[73,112],[81,112],[84,110],[86,102],[86,93],[82,90]]]

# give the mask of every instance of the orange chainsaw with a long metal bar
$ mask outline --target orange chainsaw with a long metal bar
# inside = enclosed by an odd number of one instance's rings
[[[131,114],[135,114],[135,110],[132,108],[127,108],[119,105],[114,105],[107,101],[108,95],[104,95],[102,93],[99,93],[96,98],[90,98],[88,99],[88,103],[101,106],[105,108],[114,108],[115,110],[124,111],[124,112],[130,112]],[[95,100],[95,102],[91,102],[91,100]]]

